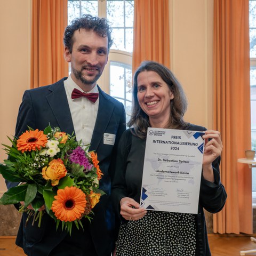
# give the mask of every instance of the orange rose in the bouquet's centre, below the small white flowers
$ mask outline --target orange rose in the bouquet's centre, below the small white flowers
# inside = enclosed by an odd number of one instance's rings
[[[67,175],[67,170],[63,161],[58,158],[53,159],[48,167],[43,167],[42,175],[44,179],[51,180],[52,186],[56,186],[59,184],[59,180]]]

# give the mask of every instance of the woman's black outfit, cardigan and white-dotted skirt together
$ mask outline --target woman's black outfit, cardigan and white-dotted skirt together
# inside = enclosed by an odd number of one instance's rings
[[[202,126],[189,125],[188,130],[206,129]],[[145,217],[138,221],[126,221],[120,215],[119,202],[123,197],[140,202],[145,147],[146,140],[135,137],[130,130],[126,130],[119,141],[111,191],[115,211],[121,220],[116,255],[211,255],[203,207],[215,213],[225,204],[227,195],[220,183],[220,158],[212,164],[215,182],[206,181],[203,177],[201,179],[198,214],[148,211]]]

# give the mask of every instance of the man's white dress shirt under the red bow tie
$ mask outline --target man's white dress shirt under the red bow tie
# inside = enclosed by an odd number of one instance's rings
[[[76,133],[76,140],[82,140],[83,145],[90,144],[99,109],[99,98],[97,101],[95,101],[95,103],[86,97],[71,99],[71,93],[74,88],[83,92],[83,90],[73,81],[71,76],[69,76],[68,79],[64,81],[64,87],[66,90],[68,105]],[[95,85],[90,92],[86,93],[91,92],[99,93],[97,85]]]

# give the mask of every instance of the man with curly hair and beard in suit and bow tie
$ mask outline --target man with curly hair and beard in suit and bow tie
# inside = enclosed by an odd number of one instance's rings
[[[71,236],[44,214],[41,227],[28,223],[22,216],[17,245],[27,255],[84,255],[108,256],[114,249],[115,218],[109,199],[117,142],[125,130],[125,111],[122,103],[104,93],[97,80],[108,61],[111,44],[110,27],[106,19],[84,15],[75,19],[65,30],[65,59],[71,63],[71,74],[55,84],[28,90],[23,95],[15,135],[18,137],[30,126],[44,130],[47,125],[60,127],[76,139],[91,144],[103,172],[100,189],[107,195],[94,207],[91,223],[83,220],[84,231],[74,226]],[[74,98],[79,92],[99,93],[95,102],[86,97]],[[95,94],[94,94],[95,95]],[[97,95],[97,94],[96,94]],[[78,95],[79,96],[79,95]],[[7,182],[7,187],[17,186]],[[61,226],[61,225],[60,225]]]

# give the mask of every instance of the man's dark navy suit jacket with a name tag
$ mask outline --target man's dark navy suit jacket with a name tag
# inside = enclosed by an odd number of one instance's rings
[[[69,134],[74,132],[71,119],[67,95],[63,78],[55,84],[27,90],[23,95],[23,100],[19,108],[15,136],[19,136],[28,129],[44,130],[47,125],[60,127],[61,131]],[[110,163],[116,154],[116,145],[125,131],[125,110],[121,102],[104,93],[99,87],[99,110],[95,123],[91,146],[89,150],[96,150],[100,161],[100,169],[103,172],[100,180],[100,188],[106,192],[100,198],[100,202],[94,207],[93,220],[86,224],[93,239],[98,255],[110,255],[114,246],[114,212],[110,204],[111,179],[113,178],[113,168]],[[103,143],[103,134],[116,134],[115,145]],[[17,183],[6,182],[7,187],[17,186]],[[37,223],[31,226],[28,223],[25,227],[27,214],[23,214],[21,225],[17,235],[17,245],[21,246],[28,255],[45,256],[66,236],[61,227],[56,231],[56,225],[47,214],[43,215],[41,228]],[[61,226],[61,225],[60,225]],[[74,232],[73,232],[74,231]],[[72,238],[81,238],[82,229],[72,231]],[[81,241],[83,243],[83,241]],[[39,253],[43,250],[43,253]],[[68,254],[67,254],[68,255]]]

